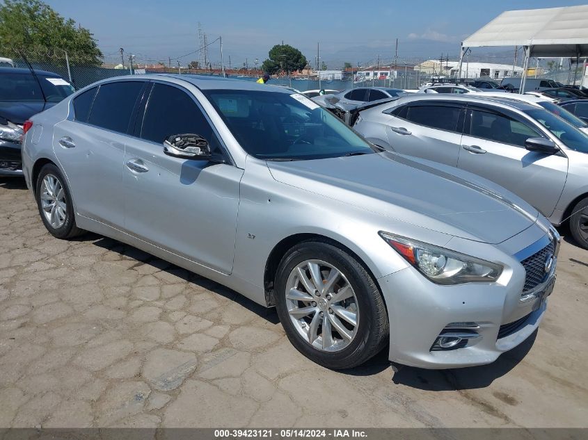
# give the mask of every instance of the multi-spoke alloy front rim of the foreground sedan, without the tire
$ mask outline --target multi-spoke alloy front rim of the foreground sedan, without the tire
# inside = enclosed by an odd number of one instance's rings
[[[296,331],[318,350],[342,350],[357,334],[359,311],[353,287],[325,261],[305,260],[290,272],[286,304]]]

